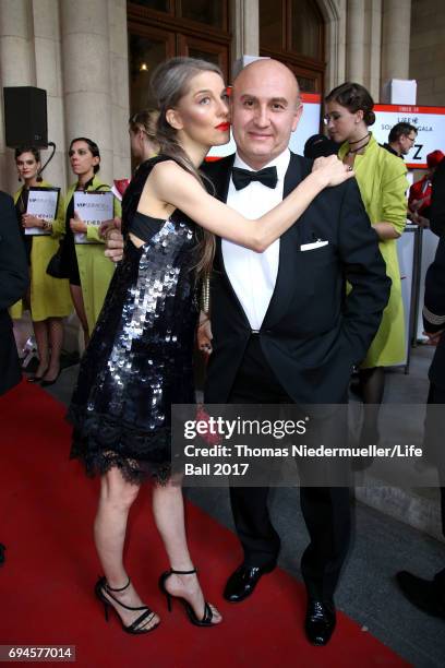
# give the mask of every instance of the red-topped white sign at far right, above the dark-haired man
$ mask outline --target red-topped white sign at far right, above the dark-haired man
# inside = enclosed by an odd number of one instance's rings
[[[414,145],[405,156],[410,169],[425,169],[426,155],[436,148],[445,153],[445,107],[418,107],[410,105],[375,105],[376,121],[371,127],[380,144],[387,143],[389,130],[397,123],[416,126]]]

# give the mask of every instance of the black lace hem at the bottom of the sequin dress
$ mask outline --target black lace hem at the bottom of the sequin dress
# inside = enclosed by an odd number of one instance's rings
[[[70,458],[81,460],[91,477],[117,467],[133,485],[154,479],[166,485],[171,477],[171,430],[141,431],[104,414],[85,415],[71,406],[67,419],[73,425]]]

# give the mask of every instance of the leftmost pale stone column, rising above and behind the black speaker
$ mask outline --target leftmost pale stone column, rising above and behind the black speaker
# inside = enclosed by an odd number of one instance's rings
[[[4,144],[3,87],[35,86],[36,63],[33,45],[31,0],[0,1],[0,187],[17,189],[14,155]]]

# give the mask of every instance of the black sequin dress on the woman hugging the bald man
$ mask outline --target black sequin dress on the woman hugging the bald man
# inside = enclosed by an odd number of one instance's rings
[[[137,170],[122,202],[124,257],[81,362],[69,420],[72,457],[89,475],[163,482],[171,470],[170,406],[194,403],[197,324],[195,226],[179,210],[167,220],[136,212],[145,180],[164,156]],[[137,249],[128,239],[143,238]],[[144,237],[142,237],[142,234]]]

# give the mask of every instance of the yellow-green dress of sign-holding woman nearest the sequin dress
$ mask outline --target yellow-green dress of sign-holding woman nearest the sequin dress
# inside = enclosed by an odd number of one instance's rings
[[[74,195],[76,183],[73,183],[67,193],[64,212],[61,219],[58,220],[58,231],[60,234],[65,234],[67,210]],[[98,192],[105,192],[110,190],[110,187],[95,176],[87,187],[87,191],[96,190]],[[113,202],[115,216],[120,216],[120,202],[116,198],[113,198]],[[105,296],[115,272],[115,264],[104,255],[105,240],[99,236],[98,228],[94,225],[87,225],[86,230],[86,238],[91,243],[75,243],[75,254],[77,258],[82,296],[91,334],[101,311]]]

